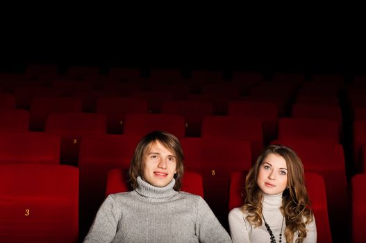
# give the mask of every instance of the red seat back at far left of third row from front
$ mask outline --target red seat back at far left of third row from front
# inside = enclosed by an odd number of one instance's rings
[[[0,108],[0,131],[28,131],[29,112],[21,109]]]

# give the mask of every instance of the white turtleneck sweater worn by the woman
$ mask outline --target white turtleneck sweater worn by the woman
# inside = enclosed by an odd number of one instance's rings
[[[282,205],[282,193],[277,195],[263,195],[263,215],[265,221],[271,228],[276,242],[279,242],[279,235],[281,233],[281,224],[283,215],[280,210]],[[259,227],[252,226],[247,220],[247,213],[242,212],[240,208],[234,208],[228,214],[228,223],[230,226],[231,238],[233,243],[236,242],[251,242],[251,243],[263,243],[270,242],[270,235],[265,227],[265,223]],[[283,221],[282,228],[282,242],[285,240],[285,221]],[[303,243],[316,243],[317,242],[317,227],[314,220],[306,225],[307,235]],[[297,240],[297,234],[294,235],[294,242]]]

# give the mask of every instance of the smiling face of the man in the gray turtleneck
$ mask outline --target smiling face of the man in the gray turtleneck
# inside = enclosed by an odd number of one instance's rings
[[[176,173],[176,156],[160,142],[154,142],[143,161],[143,179],[156,187],[168,185]]]

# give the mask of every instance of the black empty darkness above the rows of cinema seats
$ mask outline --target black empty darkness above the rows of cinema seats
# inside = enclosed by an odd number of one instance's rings
[[[363,21],[347,6],[35,5],[2,9],[1,72],[44,63],[366,73]]]

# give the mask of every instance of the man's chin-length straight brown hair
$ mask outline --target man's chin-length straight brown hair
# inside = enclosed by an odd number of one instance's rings
[[[135,153],[133,154],[133,158],[131,160],[130,169],[128,170],[131,187],[133,190],[138,187],[137,178],[138,176],[142,176],[144,174],[144,156],[146,155],[147,151],[149,151],[151,146],[153,146],[153,144],[156,142],[163,144],[167,150],[176,156],[176,174],[174,174],[176,183],[174,185],[174,190],[178,191],[181,189],[181,181],[184,174],[183,150],[178,138],[176,138],[176,136],[172,135],[171,133],[164,131],[153,131],[145,135],[139,142],[138,146],[136,146]]]

